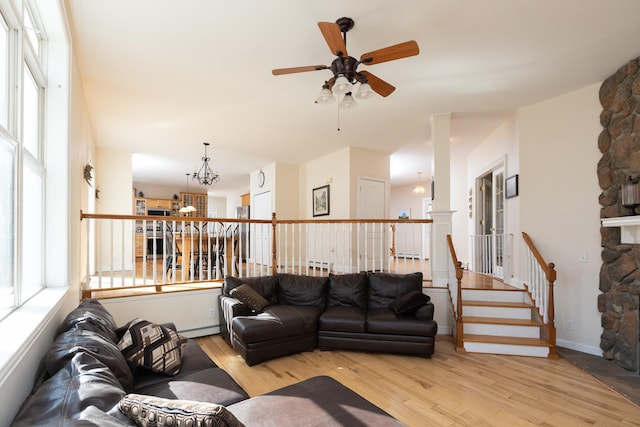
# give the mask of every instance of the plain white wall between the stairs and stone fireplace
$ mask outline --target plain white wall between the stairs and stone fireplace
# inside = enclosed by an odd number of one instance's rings
[[[556,264],[558,345],[593,354],[601,354],[602,333],[597,309],[599,87],[594,84],[517,113],[520,226],[545,261]],[[580,262],[584,255],[586,263]],[[520,272],[526,271],[524,262],[521,254]],[[573,330],[567,328],[568,322],[573,322]]]

